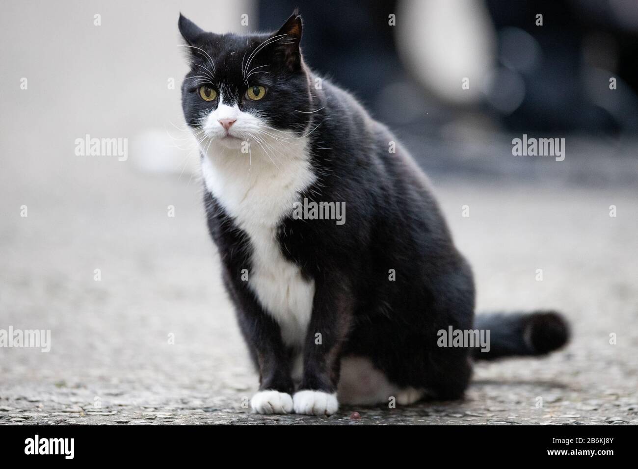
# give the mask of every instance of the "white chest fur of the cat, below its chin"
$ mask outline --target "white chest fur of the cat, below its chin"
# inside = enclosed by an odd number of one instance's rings
[[[278,322],[283,341],[299,346],[308,329],[315,283],[283,257],[276,229],[316,177],[305,138],[275,144],[268,154],[251,145],[250,155],[211,145],[202,174],[207,189],[248,234],[253,248],[252,265],[246,266],[249,287]]]

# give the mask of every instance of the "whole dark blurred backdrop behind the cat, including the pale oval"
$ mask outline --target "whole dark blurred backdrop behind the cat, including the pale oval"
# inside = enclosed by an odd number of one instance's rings
[[[263,0],[260,29],[297,7],[308,64],[435,181],[635,187],[638,0]],[[512,156],[524,133],[569,137],[567,159]]]

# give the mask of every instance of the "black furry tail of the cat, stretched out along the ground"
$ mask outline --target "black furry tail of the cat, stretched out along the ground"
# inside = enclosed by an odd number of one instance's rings
[[[475,360],[547,355],[570,336],[567,321],[556,311],[477,315],[474,327],[489,331],[489,350],[473,348]]]

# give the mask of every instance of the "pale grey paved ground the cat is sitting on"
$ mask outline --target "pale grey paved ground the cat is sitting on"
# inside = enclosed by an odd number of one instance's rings
[[[100,184],[4,178],[0,329],[50,329],[51,350],[0,348],[0,423],[638,423],[635,189],[436,179],[475,269],[479,310],[561,309],[572,344],[545,360],[478,366],[463,402],[269,417],[246,408],[256,377],[198,183],[117,161],[91,165],[77,174]],[[465,204],[470,218],[461,217]]]

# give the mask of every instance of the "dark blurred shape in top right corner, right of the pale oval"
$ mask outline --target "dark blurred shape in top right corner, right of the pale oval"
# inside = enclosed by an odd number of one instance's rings
[[[499,61],[487,100],[508,130],[638,130],[638,2],[487,0],[487,7]],[[508,109],[508,95],[521,92],[520,105]]]

